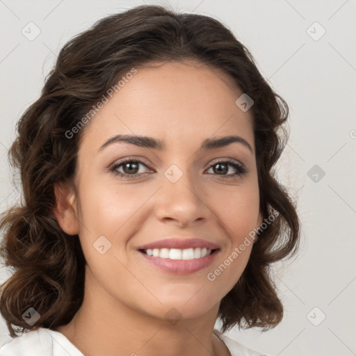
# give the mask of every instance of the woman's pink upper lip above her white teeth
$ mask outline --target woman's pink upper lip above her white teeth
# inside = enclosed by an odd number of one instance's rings
[[[138,250],[153,250],[154,248],[179,248],[181,250],[186,248],[207,248],[208,250],[216,250],[219,246],[202,238],[173,236],[141,245]]]

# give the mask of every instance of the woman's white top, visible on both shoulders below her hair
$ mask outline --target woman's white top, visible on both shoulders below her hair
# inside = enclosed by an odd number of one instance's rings
[[[227,346],[232,356],[266,356],[250,348],[245,348],[218,330],[214,333]],[[60,332],[40,327],[38,330],[24,332],[0,347],[1,356],[84,356]]]

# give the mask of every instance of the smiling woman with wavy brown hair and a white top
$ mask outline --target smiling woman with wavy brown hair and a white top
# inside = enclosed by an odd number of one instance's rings
[[[24,202],[1,221],[0,354],[261,355],[223,332],[282,320],[287,117],[211,17],[139,6],[65,44],[10,149]]]

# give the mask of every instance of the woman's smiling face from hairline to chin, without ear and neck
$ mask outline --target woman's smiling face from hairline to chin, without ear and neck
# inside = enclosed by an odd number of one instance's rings
[[[86,289],[104,307],[157,318],[217,312],[248,262],[245,238],[262,221],[252,113],[236,106],[243,92],[229,77],[202,64],[136,70],[92,118],[79,147],[78,205],[71,202]],[[150,140],[111,140],[117,135]],[[241,139],[200,149],[226,136]],[[209,244],[213,254],[200,257],[197,248]]]

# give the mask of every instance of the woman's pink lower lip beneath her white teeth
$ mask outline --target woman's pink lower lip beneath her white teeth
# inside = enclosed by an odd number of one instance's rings
[[[175,273],[178,275],[188,275],[197,272],[203,268],[207,268],[213,263],[219,250],[215,250],[208,256],[200,259],[162,259],[160,257],[153,257],[145,254],[145,252],[138,251],[150,264],[164,270],[168,273]]]

